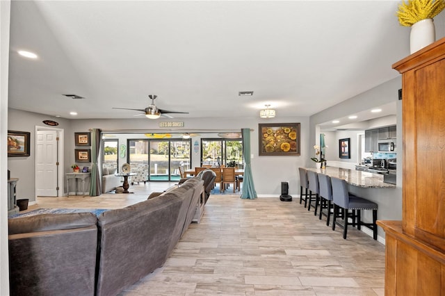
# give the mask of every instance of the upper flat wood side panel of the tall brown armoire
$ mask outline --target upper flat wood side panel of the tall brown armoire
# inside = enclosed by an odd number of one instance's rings
[[[445,60],[416,71],[414,227],[445,239]],[[436,98],[436,99],[434,99]],[[438,99],[442,98],[442,99]],[[439,240],[441,241],[441,240]],[[445,249],[445,245],[438,246]]]

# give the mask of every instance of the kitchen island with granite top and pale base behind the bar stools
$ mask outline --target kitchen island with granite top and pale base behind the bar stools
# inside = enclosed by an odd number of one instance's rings
[[[326,167],[325,169],[307,167],[306,170],[345,179],[348,183],[349,192],[378,204],[377,220],[401,220],[402,189],[394,184],[385,183],[382,174],[343,169],[341,167]],[[371,222],[371,211],[362,211],[362,220]],[[362,227],[362,231],[371,237],[373,236],[372,231],[366,227]],[[381,227],[378,227],[378,241],[385,244],[385,233]]]

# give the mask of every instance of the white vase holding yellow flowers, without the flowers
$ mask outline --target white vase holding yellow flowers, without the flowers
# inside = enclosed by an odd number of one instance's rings
[[[410,53],[423,49],[436,41],[436,31],[432,19],[422,19],[411,26]]]

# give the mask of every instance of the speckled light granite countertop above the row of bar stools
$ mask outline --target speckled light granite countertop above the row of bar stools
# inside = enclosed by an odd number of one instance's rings
[[[342,169],[341,167],[326,167],[325,169],[307,167],[306,169],[314,172],[321,172],[322,174],[327,174],[328,176],[335,176],[340,179],[345,179],[346,182],[353,186],[364,188],[396,188],[394,184],[385,183],[383,181],[382,174]]]

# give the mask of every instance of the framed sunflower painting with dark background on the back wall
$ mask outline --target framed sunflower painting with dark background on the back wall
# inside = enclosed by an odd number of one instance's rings
[[[259,156],[300,155],[300,123],[258,124]]]

